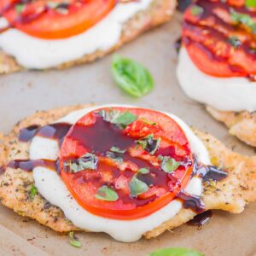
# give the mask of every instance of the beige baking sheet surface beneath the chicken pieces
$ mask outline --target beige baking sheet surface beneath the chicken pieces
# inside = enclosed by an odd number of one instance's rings
[[[94,102],[126,103],[177,114],[189,125],[208,131],[228,147],[243,154],[253,149],[228,135],[224,125],[213,120],[204,108],[183,95],[177,84],[177,54],[173,45],[180,35],[180,16],[148,32],[119,50],[120,55],[142,62],[154,75],[155,89],[134,99],[113,83],[111,55],[91,65],[47,73],[27,72],[0,77],[0,131],[38,109]],[[185,72],[185,70],[184,70]],[[206,255],[256,255],[256,203],[239,215],[214,212],[201,230],[183,225],[149,241],[113,241],[104,234],[78,233],[83,247],[71,247],[66,235],[56,234],[29,218],[0,207],[0,255],[147,255],[161,247],[191,247]]]

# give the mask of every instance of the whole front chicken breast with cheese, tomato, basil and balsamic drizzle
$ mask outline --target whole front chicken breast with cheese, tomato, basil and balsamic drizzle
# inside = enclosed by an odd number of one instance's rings
[[[137,241],[256,199],[256,158],[171,113],[58,108],[20,121],[1,141],[3,205],[59,232]]]

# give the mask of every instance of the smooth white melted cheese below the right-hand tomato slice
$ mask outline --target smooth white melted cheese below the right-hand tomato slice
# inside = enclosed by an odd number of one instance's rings
[[[256,110],[256,82],[245,78],[217,78],[202,73],[186,49],[179,53],[177,79],[193,100],[222,111]]]

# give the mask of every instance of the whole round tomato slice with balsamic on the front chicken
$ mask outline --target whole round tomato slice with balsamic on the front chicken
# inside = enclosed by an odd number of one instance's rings
[[[165,207],[186,186],[192,173],[193,155],[183,130],[164,113],[143,108],[102,108],[105,113],[132,113],[137,117],[126,127],[102,119],[99,110],[87,113],[68,131],[61,146],[61,177],[76,201],[85,210],[104,218],[136,219]],[[138,129],[138,127],[140,129]],[[141,142],[148,135],[160,144],[154,153]],[[137,141],[140,143],[137,143]],[[125,150],[121,161],[109,156],[110,148]],[[94,154],[96,167],[68,172],[67,163]],[[159,156],[181,164],[171,173],[161,167]],[[186,165],[183,165],[186,163]],[[139,170],[148,171],[141,173]],[[145,170],[144,170],[145,171]],[[132,179],[148,189],[134,195]],[[146,185],[145,185],[146,184]],[[113,201],[99,199],[99,189],[108,187],[117,196]],[[140,189],[140,188],[139,188]]]

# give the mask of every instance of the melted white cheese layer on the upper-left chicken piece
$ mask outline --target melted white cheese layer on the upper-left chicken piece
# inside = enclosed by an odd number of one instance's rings
[[[46,40],[33,38],[16,29],[0,34],[0,48],[13,55],[20,65],[44,69],[74,61],[96,50],[108,50],[119,42],[123,24],[147,9],[152,0],[118,3],[112,12],[96,26],[72,38]],[[0,21],[0,24],[4,23]],[[17,44],[19,42],[19,44]]]

